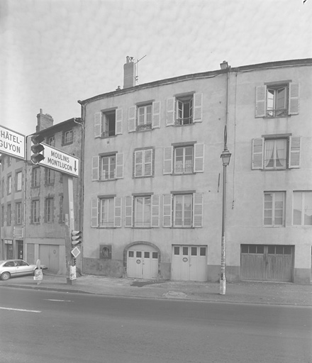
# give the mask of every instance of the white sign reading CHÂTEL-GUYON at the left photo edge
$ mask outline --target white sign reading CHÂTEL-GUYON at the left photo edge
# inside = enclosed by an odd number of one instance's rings
[[[0,152],[25,160],[25,136],[0,125]]]

